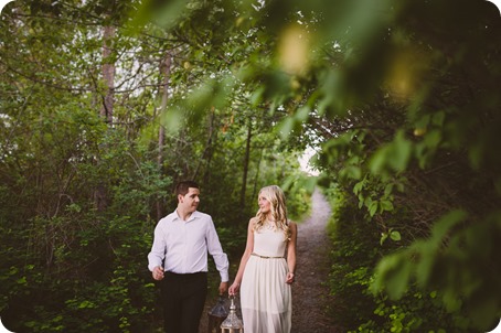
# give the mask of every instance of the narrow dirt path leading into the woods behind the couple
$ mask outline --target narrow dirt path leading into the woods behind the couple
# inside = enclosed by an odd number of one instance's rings
[[[292,284],[292,332],[338,333],[337,326],[326,313],[332,307],[329,289],[323,284],[329,276],[331,243],[326,233],[331,208],[323,195],[315,191],[311,216],[298,223],[298,262],[296,282]],[[206,305],[207,311],[210,305]],[[202,316],[200,333],[207,332],[207,318]]]

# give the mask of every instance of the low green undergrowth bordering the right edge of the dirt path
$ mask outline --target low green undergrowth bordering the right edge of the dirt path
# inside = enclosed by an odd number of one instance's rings
[[[348,332],[480,332],[459,308],[447,309],[444,294],[423,290],[398,276],[390,291],[401,288],[398,300],[373,291],[376,266],[384,257],[408,248],[404,239],[386,239],[370,214],[358,208],[358,200],[339,186],[326,191],[333,207],[329,233],[333,243],[328,286],[335,307],[331,315]],[[387,222],[395,218],[385,215]],[[404,214],[399,212],[398,219]],[[391,223],[390,223],[391,224]],[[383,236],[382,236],[383,235]],[[408,241],[407,241],[408,243]],[[408,258],[407,260],[412,260]]]

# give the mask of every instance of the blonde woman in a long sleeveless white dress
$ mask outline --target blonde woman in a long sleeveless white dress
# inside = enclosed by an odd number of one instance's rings
[[[228,293],[234,296],[241,290],[246,333],[289,333],[297,225],[287,219],[280,187],[263,187],[258,204],[256,216],[248,223],[247,245]]]

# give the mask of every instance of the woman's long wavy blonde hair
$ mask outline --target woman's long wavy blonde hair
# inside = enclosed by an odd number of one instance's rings
[[[271,219],[275,221],[275,226],[284,230],[286,239],[290,239],[291,232],[287,219],[286,196],[284,195],[284,191],[277,185],[269,185],[260,189],[259,196],[264,196],[270,203],[270,208],[267,214],[263,213],[260,208],[257,211],[257,221],[254,224],[254,230],[262,228],[268,215],[270,215]]]

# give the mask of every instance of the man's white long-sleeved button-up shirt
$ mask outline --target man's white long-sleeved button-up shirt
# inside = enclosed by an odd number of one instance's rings
[[[228,281],[228,259],[221,247],[212,217],[193,212],[188,221],[172,212],[159,221],[154,228],[148,269],[163,267],[164,271],[193,273],[207,271],[207,253],[214,258],[221,281]]]

